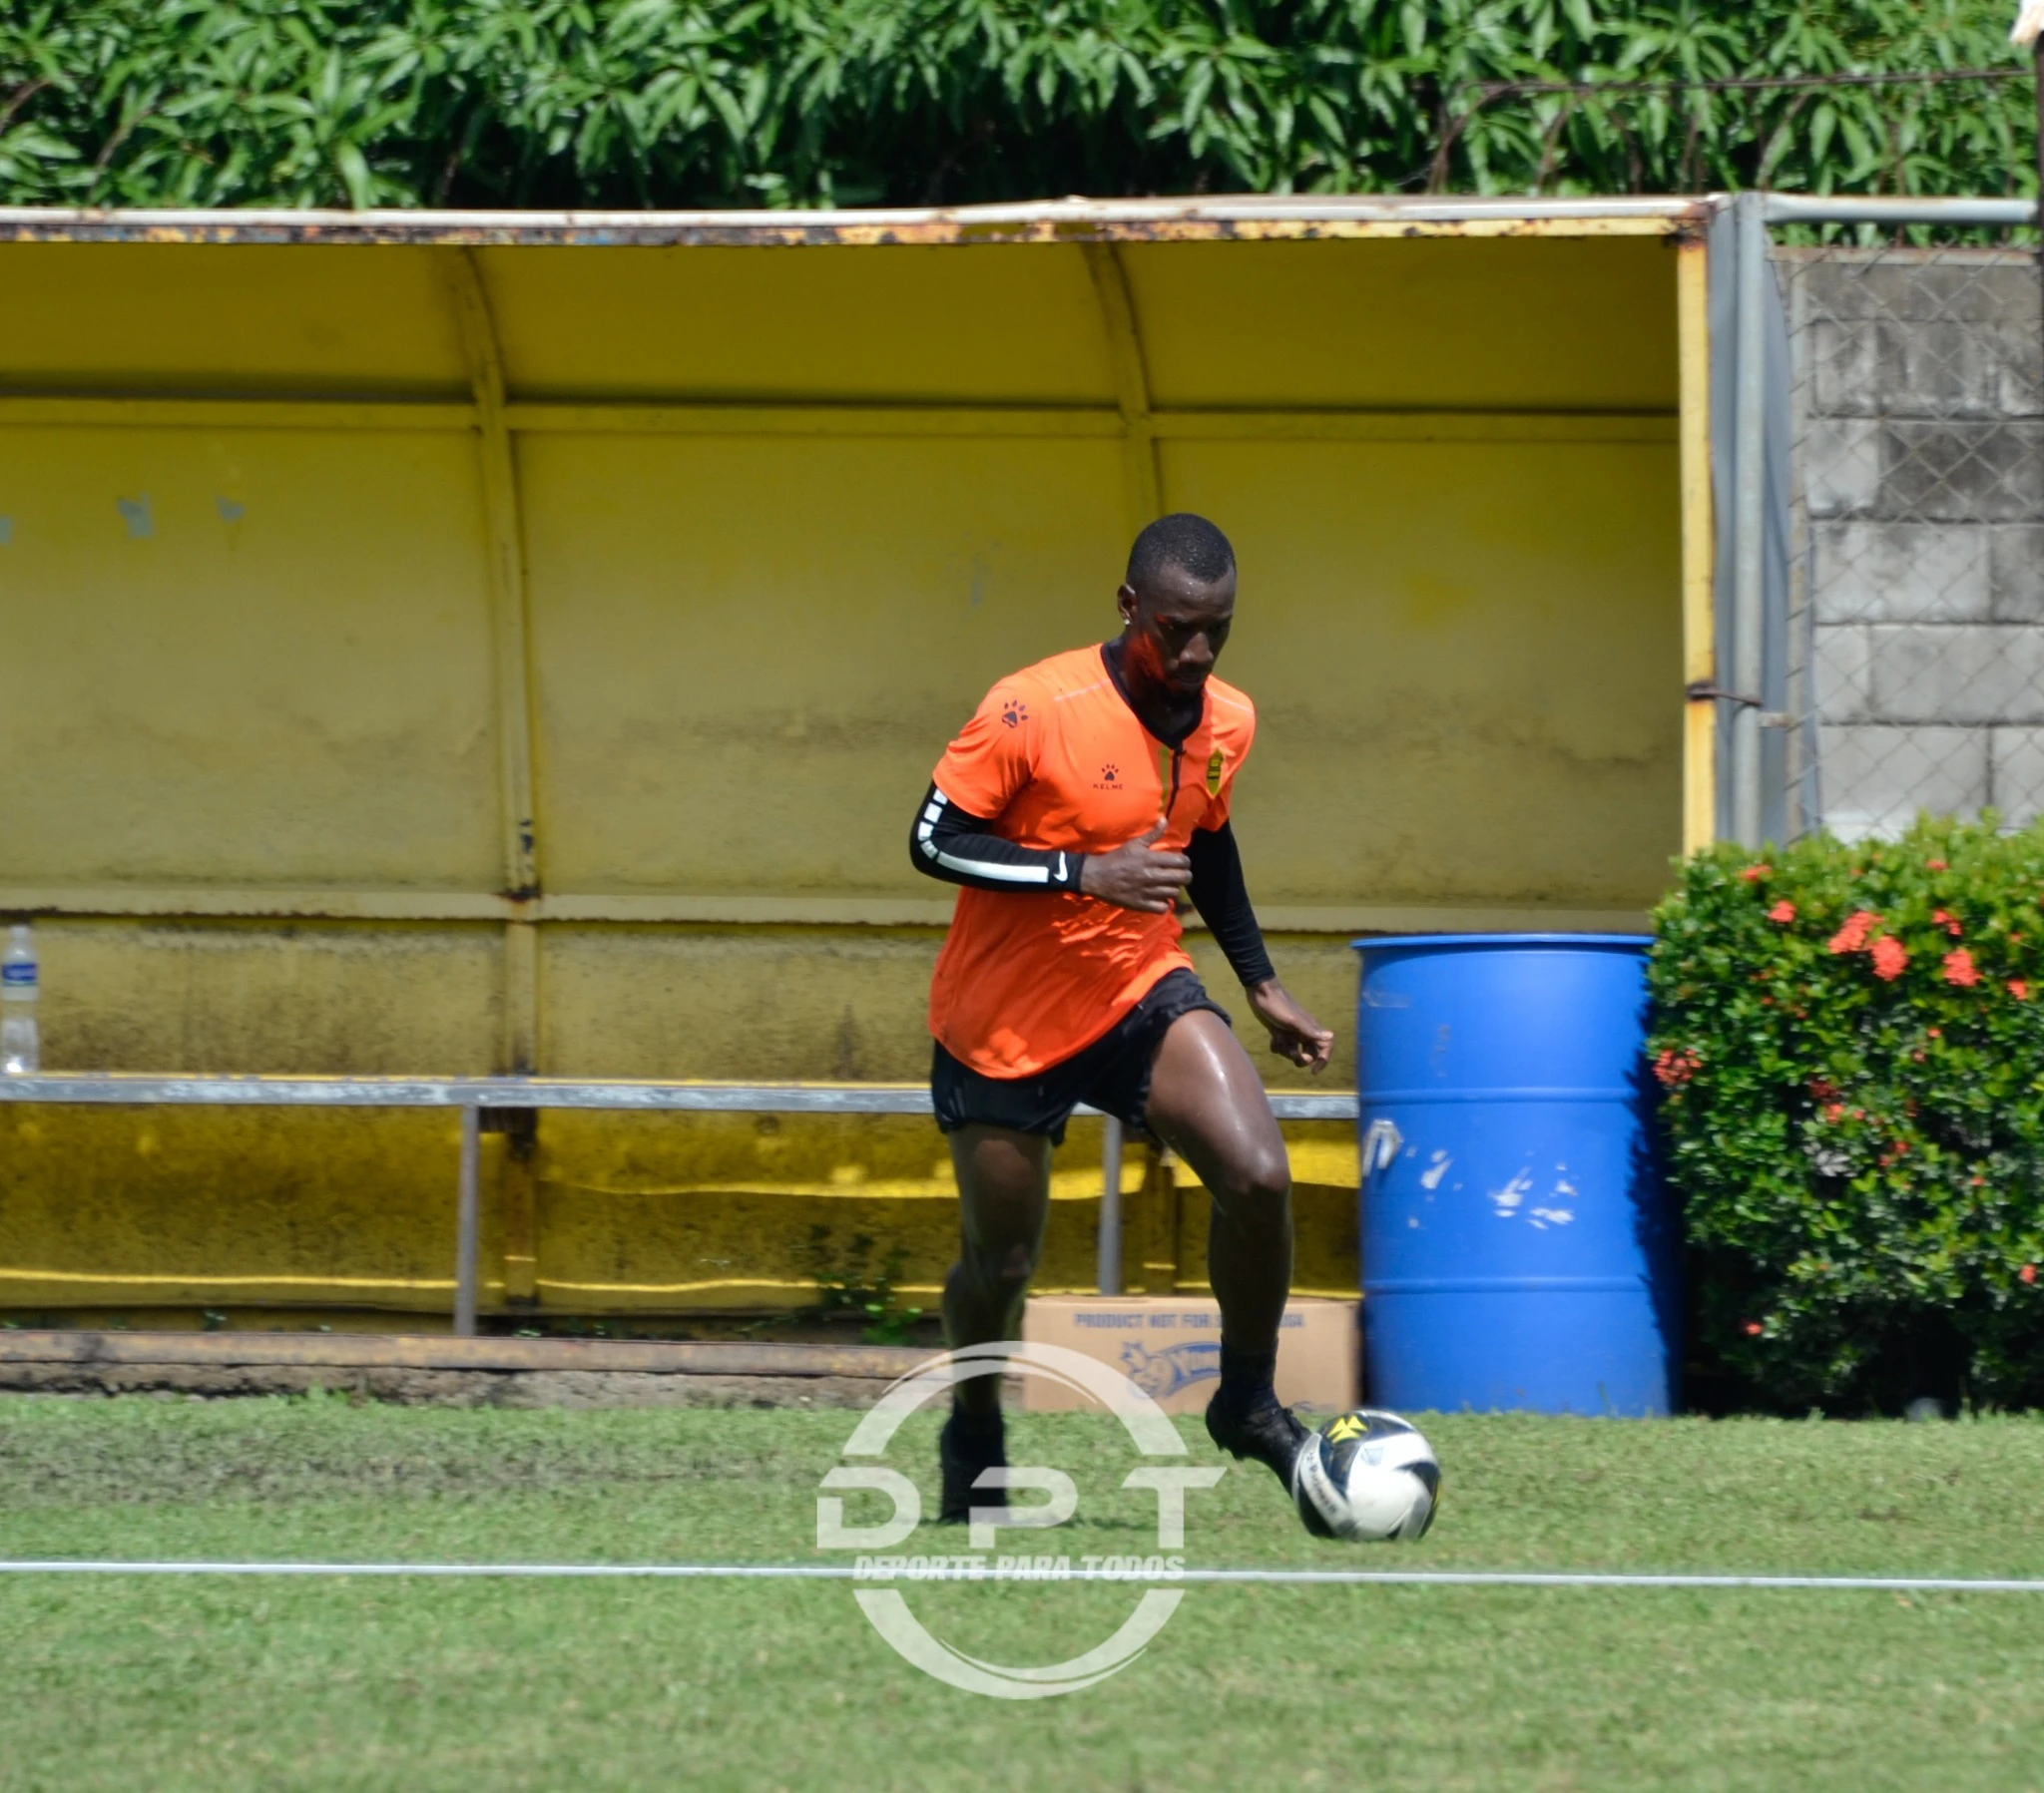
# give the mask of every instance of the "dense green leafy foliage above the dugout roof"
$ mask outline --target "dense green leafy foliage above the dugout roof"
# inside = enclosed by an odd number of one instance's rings
[[[2007,0],[12,0],[16,204],[2028,192]],[[1598,94],[1494,84],[1645,82]],[[1686,86],[1670,86],[1686,84]]]

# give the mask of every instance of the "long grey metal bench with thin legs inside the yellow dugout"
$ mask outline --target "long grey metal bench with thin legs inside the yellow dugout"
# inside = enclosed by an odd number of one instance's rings
[[[0,1077],[0,1102],[98,1102],[219,1108],[458,1108],[460,1180],[454,1229],[454,1333],[476,1335],[478,1165],[482,1114],[603,1108],[628,1114],[928,1114],[924,1084],[660,1084],[574,1077],[159,1077],[119,1071]],[[1343,1090],[1271,1092],[1280,1120],[1353,1120]],[[1081,1106],[1079,1114],[1098,1114]],[[1122,1124],[1106,1118],[1100,1192],[1102,1294],[1120,1294]]]

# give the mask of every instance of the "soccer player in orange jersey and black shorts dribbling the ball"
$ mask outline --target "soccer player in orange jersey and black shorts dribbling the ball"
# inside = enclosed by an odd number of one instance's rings
[[[1051,1212],[1051,1147],[1079,1102],[1147,1131],[1212,1194],[1220,1388],[1206,1431],[1290,1484],[1304,1425],[1271,1388],[1292,1286],[1292,1169],[1249,1055],[1179,947],[1179,893],[1212,928],[1271,1049],[1320,1071],[1335,1037],[1271,969],[1228,797],[1257,714],[1214,660],[1235,550],[1159,517],[1128,556],[1122,634],[1002,679],[944,750],[910,828],[959,891],[930,985],[930,1092],[959,1176],[944,1282],[953,1349],[1016,1337]],[[944,1519],[1006,1464],[997,1378],[961,1382],[940,1441]]]

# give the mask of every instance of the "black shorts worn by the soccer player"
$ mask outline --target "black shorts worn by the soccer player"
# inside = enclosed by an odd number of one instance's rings
[[[1126,1127],[1143,1127],[1149,1108],[1149,1073],[1165,1028],[1181,1014],[1204,1008],[1228,1020],[1228,1012],[1206,994],[1206,985],[1183,965],[1165,971],[1134,1008],[1083,1051],[1061,1059],[1034,1077],[987,1077],[961,1065],[942,1045],[930,1061],[930,1098],[936,1124],[944,1133],[961,1127],[1010,1127],[1016,1133],[1049,1133],[1065,1143],[1071,1110],[1089,1102]]]

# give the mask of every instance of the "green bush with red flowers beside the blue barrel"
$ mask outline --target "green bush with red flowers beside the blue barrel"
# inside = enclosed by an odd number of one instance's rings
[[[1776,1405],[2044,1400],[2044,830],[1717,846],[1656,930],[1701,1347]]]

